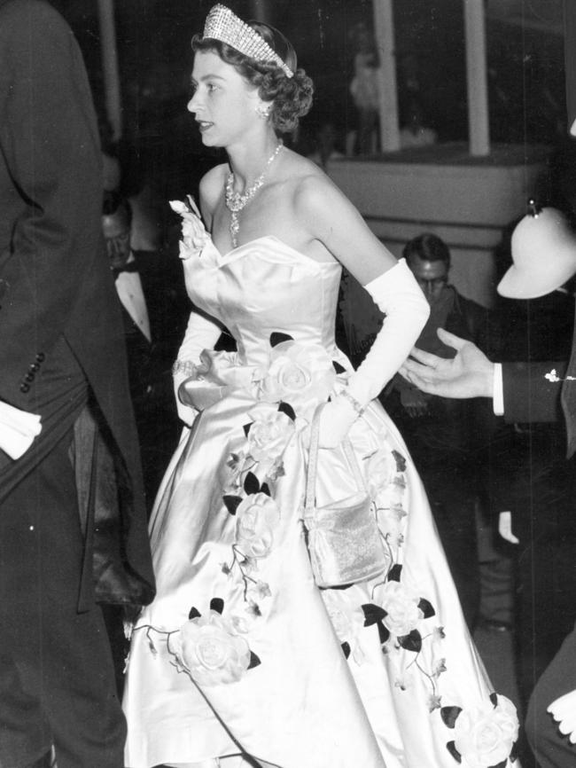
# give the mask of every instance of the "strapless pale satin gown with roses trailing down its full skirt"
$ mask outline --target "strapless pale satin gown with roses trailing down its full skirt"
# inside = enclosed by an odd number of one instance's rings
[[[240,750],[281,768],[505,765],[514,709],[493,694],[423,486],[378,402],[350,437],[389,569],[315,585],[301,521],[307,424],[350,370],[334,341],[339,265],[274,237],[227,255],[208,237],[181,255],[192,301],[237,352],[204,354],[191,383],[203,410],[152,514],[158,595],[132,635],[126,765]],[[321,451],[318,502],[354,490],[340,452]]]

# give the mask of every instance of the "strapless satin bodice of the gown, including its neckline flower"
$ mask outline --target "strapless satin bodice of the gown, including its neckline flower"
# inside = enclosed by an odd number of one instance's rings
[[[339,264],[315,262],[272,236],[222,255],[188,200],[171,203],[183,217],[186,288],[191,301],[235,338],[238,363],[268,365],[270,336],[284,333],[299,344],[323,348],[348,368],[334,340]]]

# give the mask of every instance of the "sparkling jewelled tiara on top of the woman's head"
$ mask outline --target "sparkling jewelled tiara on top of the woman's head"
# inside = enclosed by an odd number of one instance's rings
[[[243,20],[238,19],[237,15],[225,5],[214,5],[206,16],[203,39],[206,37],[231,45],[249,59],[273,61],[278,67],[282,67],[287,77],[292,77],[294,74],[264,38]]]

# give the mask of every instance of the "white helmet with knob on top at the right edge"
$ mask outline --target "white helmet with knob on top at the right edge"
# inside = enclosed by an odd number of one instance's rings
[[[510,299],[536,299],[551,294],[576,273],[576,236],[556,208],[530,212],[512,233],[513,264],[496,290]]]

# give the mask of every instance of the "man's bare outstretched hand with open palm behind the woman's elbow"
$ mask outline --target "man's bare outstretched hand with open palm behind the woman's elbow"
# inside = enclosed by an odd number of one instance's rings
[[[440,397],[492,397],[494,363],[471,341],[438,329],[438,337],[456,350],[451,360],[414,347],[400,373],[417,388]],[[414,359],[412,359],[414,358]]]

